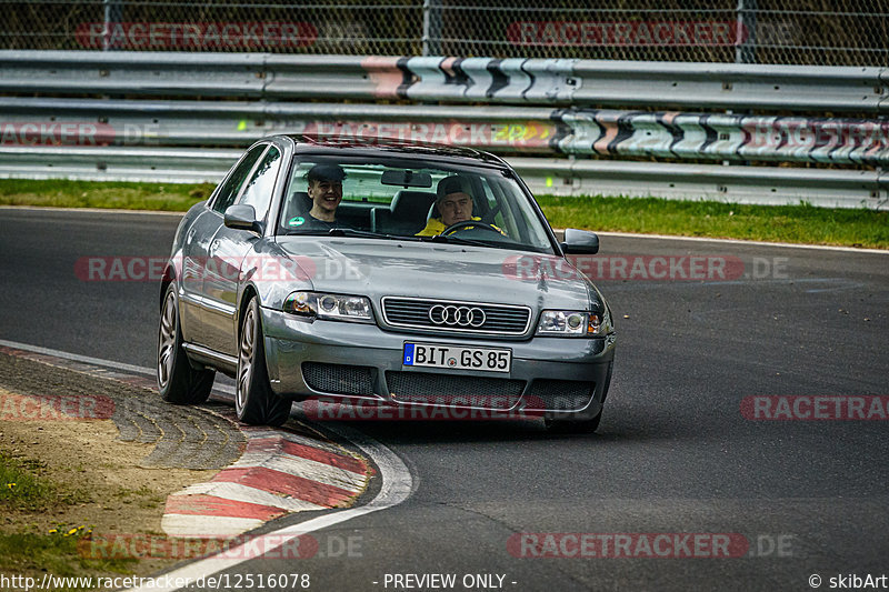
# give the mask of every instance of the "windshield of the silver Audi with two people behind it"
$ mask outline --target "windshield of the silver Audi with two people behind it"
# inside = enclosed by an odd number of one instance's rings
[[[502,171],[406,159],[307,155],[290,172],[278,234],[433,240],[552,252],[519,183]]]

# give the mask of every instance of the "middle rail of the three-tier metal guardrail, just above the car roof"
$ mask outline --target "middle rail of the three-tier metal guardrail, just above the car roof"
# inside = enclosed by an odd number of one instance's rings
[[[246,147],[271,133],[399,138],[501,153],[889,165],[889,120],[531,107],[0,97],[20,144]],[[63,124],[77,126],[64,133]]]

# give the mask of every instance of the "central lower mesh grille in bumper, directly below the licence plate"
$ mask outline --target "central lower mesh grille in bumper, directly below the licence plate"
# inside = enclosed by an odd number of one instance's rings
[[[483,409],[511,409],[525,389],[523,380],[394,370],[386,372],[386,381],[392,397],[403,403]]]

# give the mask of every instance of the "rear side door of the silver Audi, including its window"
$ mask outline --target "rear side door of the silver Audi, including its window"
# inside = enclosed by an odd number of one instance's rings
[[[221,218],[216,213],[227,208],[240,194],[247,175],[253,169],[264,150],[250,150],[232,167],[226,180],[213,192],[208,207],[194,219],[182,238],[182,277],[180,278],[180,308],[182,335],[191,343],[204,343],[203,330],[203,278],[207,273],[207,258]]]

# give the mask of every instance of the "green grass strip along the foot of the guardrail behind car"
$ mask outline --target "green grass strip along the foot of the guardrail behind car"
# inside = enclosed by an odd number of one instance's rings
[[[0,180],[0,205],[186,211],[212,190],[210,183],[7,179]],[[602,195],[538,201],[557,228],[889,249],[886,211]]]

